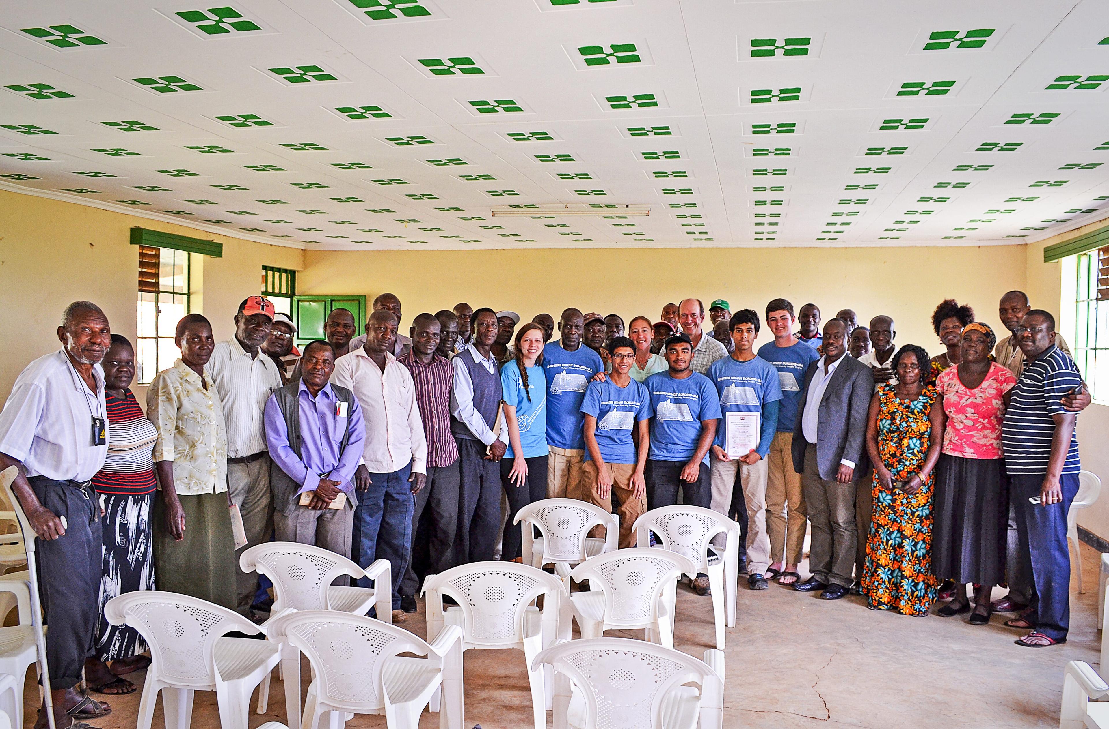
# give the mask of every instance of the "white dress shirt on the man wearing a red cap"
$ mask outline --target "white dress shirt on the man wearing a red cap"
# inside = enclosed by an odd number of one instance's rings
[[[262,413],[269,393],[282,386],[277,366],[261,350],[251,359],[251,353],[232,337],[215,346],[207,367],[223,403],[227,458],[238,459],[265,451]]]

